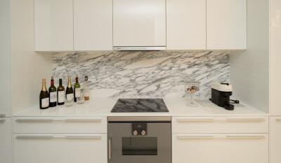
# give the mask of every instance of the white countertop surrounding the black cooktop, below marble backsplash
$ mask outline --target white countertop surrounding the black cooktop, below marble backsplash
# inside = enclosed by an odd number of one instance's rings
[[[39,109],[39,106],[26,109],[13,114],[15,117],[31,116],[268,116],[259,109],[247,105],[235,106],[234,111],[227,111],[210,101],[204,101],[202,106],[190,107],[185,105],[183,98],[166,98],[164,102],[169,109],[169,113],[110,113],[117,99],[97,98],[91,99],[84,104],[74,104],[73,106],[57,106],[46,110]]]

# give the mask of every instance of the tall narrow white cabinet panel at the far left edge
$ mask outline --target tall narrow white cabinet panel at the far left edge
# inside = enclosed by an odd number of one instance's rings
[[[11,115],[10,1],[0,1],[0,113]],[[6,112],[7,111],[7,112]],[[10,111],[10,112],[9,112]]]

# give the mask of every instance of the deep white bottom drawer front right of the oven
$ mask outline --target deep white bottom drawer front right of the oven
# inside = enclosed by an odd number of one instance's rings
[[[268,163],[268,134],[173,134],[172,137],[173,163]]]

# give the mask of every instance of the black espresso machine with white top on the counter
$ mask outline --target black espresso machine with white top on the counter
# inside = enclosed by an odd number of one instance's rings
[[[210,100],[217,106],[221,106],[228,111],[234,110],[233,104],[239,104],[238,100],[230,99],[231,95],[233,95],[233,86],[229,83],[213,83],[211,85]]]

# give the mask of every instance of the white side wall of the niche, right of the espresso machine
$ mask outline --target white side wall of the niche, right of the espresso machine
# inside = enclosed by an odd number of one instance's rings
[[[241,101],[268,112],[269,0],[247,2],[247,50],[230,54],[230,82]]]

